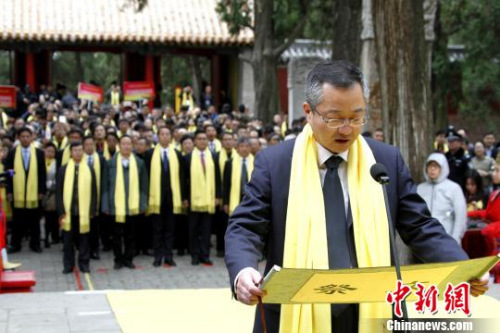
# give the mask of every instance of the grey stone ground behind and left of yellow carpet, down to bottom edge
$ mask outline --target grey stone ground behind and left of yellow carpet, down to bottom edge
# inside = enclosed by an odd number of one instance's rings
[[[223,259],[212,259],[212,267],[192,266],[189,255],[175,256],[176,267],[155,268],[152,257],[138,256],[137,269],[115,271],[112,252],[101,253],[101,260],[91,261],[90,283],[80,275],[84,291],[79,291],[76,275],[61,273],[61,245],[41,254],[24,246],[10,260],[22,262],[23,270],[35,270],[37,285],[31,294],[0,295],[0,333],[120,332],[107,290],[228,288]],[[488,295],[500,300],[500,284],[492,285]]]

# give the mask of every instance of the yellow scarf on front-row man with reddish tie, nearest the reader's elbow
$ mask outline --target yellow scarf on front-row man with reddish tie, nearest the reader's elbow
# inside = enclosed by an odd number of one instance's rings
[[[191,210],[215,213],[215,165],[212,153],[204,151],[205,172],[201,164],[200,150],[194,148],[191,155]]]

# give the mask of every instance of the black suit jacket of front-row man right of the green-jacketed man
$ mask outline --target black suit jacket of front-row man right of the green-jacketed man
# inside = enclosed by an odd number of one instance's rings
[[[146,163],[146,169],[148,171],[148,176],[149,179],[151,179],[151,161],[153,159],[153,153],[154,153],[154,148],[150,149],[146,152],[144,161]],[[181,199],[188,200],[188,193],[186,189],[186,160],[182,156],[180,152],[175,150],[176,156],[169,156],[168,159],[169,161],[172,158],[177,158],[179,161],[179,185],[181,188]],[[161,165],[161,159],[160,159],[160,168],[161,168],[161,210],[163,211],[164,208],[172,210],[173,209],[173,201],[172,201],[172,187],[170,184],[170,175],[167,175],[165,173],[165,170],[163,169],[163,165]],[[151,188],[150,188],[151,190]],[[165,207],[165,205],[167,205]]]

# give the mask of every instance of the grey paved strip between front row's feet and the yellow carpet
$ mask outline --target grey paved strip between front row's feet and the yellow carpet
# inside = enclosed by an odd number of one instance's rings
[[[19,253],[9,255],[12,262],[21,262],[22,270],[34,270],[37,284],[35,292],[55,292],[79,290],[74,274],[62,274],[62,245],[52,245],[37,254],[29,250],[26,244]],[[215,252],[215,251],[212,251]],[[171,289],[171,288],[228,288],[229,277],[222,258],[212,253],[214,265],[192,266],[189,255],[174,255],[176,267],[153,267],[153,257],[137,256],[135,270],[113,269],[113,252],[102,252],[100,260],[90,261],[89,275],[94,290],[109,289]],[[84,275],[80,276],[83,289],[91,289]]]

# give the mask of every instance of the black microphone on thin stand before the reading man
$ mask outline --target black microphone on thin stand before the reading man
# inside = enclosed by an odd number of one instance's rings
[[[389,176],[387,174],[387,169],[385,165],[382,163],[375,163],[370,168],[370,174],[372,178],[382,185],[382,191],[384,192],[384,202],[385,202],[385,210],[387,212],[387,222],[389,222],[389,237],[390,237],[390,245],[391,245],[391,254],[394,259],[394,267],[396,269],[396,277],[398,280],[403,281],[401,278],[401,266],[399,265],[399,257],[396,251],[396,232],[394,231],[394,225],[392,224],[391,211],[389,209],[389,199],[387,197],[387,188],[386,185],[389,184]],[[403,319],[408,320],[408,311],[406,309],[406,300],[403,301],[402,310],[403,310]]]

